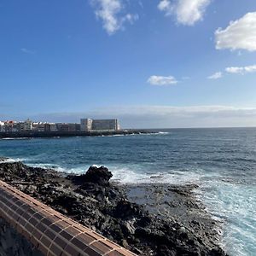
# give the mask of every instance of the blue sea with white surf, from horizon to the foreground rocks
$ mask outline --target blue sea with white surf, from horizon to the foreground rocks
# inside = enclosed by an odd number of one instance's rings
[[[227,253],[256,255],[256,128],[2,139],[0,156],[74,173],[107,166],[120,183],[197,183],[195,195],[223,223]]]

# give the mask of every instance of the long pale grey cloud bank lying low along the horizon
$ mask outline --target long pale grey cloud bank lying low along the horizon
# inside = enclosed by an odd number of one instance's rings
[[[124,128],[256,126],[256,108],[230,106],[112,106],[84,113],[46,113],[32,119],[79,122],[81,117],[115,117]]]

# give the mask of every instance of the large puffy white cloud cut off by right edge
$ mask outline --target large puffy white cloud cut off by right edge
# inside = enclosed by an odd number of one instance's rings
[[[256,12],[247,13],[239,20],[231,21],[225,29],[215,32],[216,49],[256,50]]]

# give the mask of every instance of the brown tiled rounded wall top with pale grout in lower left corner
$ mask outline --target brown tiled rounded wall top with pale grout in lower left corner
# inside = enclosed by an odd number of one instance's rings
[[[3,181],[0,217],[47,256],[136,255]]]

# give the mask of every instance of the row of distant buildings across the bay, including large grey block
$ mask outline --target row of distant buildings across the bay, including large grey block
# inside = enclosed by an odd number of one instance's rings
[[[119,131],[118,119],[81,119],[80,124],[33,122],[26,119],[23,122],[0,121],[0,132],[22,131]]]

